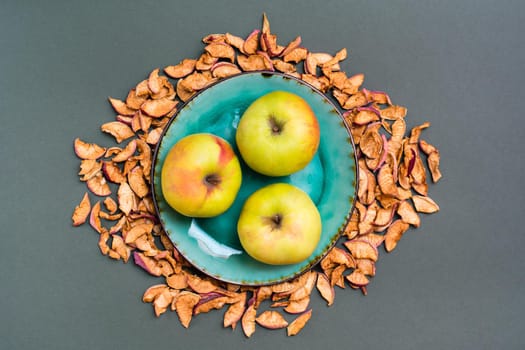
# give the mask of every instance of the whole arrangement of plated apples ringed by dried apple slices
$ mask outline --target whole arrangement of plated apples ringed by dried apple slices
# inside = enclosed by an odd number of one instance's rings
[[[347,50],[279,43],[266,15],[246,36],[210,34],[196,58],[155,69],[100,129],[74,140],[87,191],[74,226],[102,254],[155,276],[156,316],[222,310],[223,327],[298,334],[311,298],[367,287],[381,251],[439,210],[438,149],[407,108],[341,68]]]

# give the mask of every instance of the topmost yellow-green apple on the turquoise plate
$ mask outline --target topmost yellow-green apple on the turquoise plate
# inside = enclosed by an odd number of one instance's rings
[[[267,176],[303,169],[317,152],[319,139],[319,123],[308,102],[286,91],[273,91],[252,102],[235,134],[246,164]]]

